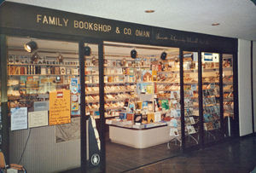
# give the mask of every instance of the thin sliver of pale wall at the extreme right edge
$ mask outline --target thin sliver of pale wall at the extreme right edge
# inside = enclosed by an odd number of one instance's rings
[[[256,132],[256,41],[253,42],[253,108],[254,131]]]

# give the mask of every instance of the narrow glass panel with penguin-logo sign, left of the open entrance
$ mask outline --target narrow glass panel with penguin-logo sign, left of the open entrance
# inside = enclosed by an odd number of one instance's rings
[[[105,132],[102,44],[79,43],[81,168],[104,172]]]

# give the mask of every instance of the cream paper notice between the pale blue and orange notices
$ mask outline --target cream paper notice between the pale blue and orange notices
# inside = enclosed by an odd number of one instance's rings
[[[28,127],[41,127],[48,125],[48,111],[28,112]]]

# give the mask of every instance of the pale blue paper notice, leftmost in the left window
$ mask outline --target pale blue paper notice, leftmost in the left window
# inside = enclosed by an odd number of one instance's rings
[[[11,130],[27,129],[27,107],[11,108]]]

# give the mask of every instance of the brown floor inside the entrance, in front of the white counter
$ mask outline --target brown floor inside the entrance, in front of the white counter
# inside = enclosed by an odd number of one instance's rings
[[[108,141],[106,143],[106,172],[113,173],[131,170],[140,165],[154,163],[179,153],[181,153],[180,147],[173,145],[171,149],[168,149],[166,143],[137,149]]]

